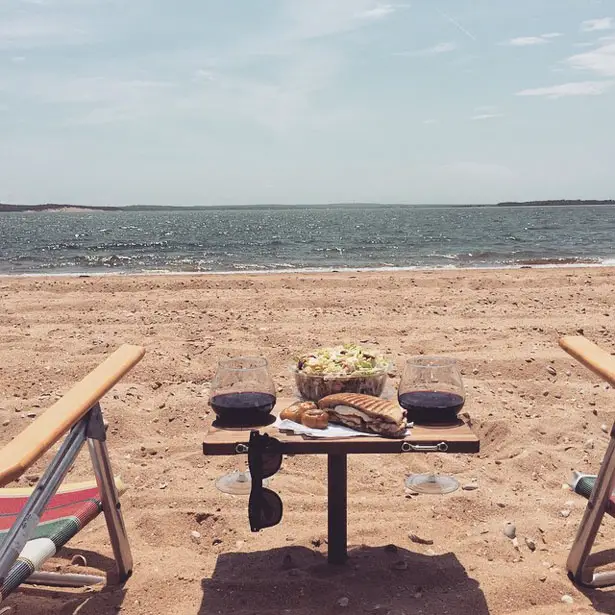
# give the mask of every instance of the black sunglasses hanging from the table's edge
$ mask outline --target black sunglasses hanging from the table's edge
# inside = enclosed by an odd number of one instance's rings
[[[273,527],[282,520],[282,500],[280,496],[263,487],[263,480],[273,476],[282,466],[282,447],[280,442],[258,431],[250,432],[248,448],[248,467],[252,477],[252,489],[248,503],[250,529],[258,532]]]

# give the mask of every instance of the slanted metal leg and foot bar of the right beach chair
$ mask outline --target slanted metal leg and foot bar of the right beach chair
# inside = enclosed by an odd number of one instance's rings
[[[605,587],[615,584],[615,572],[595,573],[595,564],[590,562],[591,550],[606,512],[609,498],[615,488],[615,425],[611,430],[611,440],[594,484],[592,495],[587,502],[583,519],[566,566],[573,580],[579,585]]]

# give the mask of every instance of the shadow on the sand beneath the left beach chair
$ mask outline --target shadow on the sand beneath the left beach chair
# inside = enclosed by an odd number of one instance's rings
[[[82,555],[87,568],[69,566],[74,555]],[[56,563],[62,564],[62,572],[106,574],[111,582],[116,578],[115,561],[96,551],[63,547],[55,557]],[[49,612],[68,615],[79,606],[79,615],[106,615],[117,613],[124,602],[126,589],[120,585],[95,585],[93,588],[57,588],[40,585],[21,585],[7,600],[14,612],[38,613]]]

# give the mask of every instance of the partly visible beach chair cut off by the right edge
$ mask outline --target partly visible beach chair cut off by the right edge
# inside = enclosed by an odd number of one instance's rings
[[[568,336],[560,346],[583,365],[615,387],[615,356],[582,336]],[[572,489],[587,498],[587,507],[568,555],[567,568],[572,580],[589,587],[615,585],[615,570],[596,571],[615,562],[612,549],[592,553],[596,534],[605,514],[615,517],[615,424],[597,475],[575,472]]]

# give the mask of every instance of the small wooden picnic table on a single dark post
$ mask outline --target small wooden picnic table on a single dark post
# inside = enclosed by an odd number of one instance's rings
[[[280,399],[273,414],[289,406],[293,399]],[[219,428],[211,426],[203,440],[205,455],[247,454],[250,431],[268,433],[282,445],[285,455],[327,455],[328,535],[331,564],[347,558],[347,456],[356,453],[478,453],[480,440],[459,420],[453,425],[417,425],[404,439],[374,436],[353,438],[307,438],[266,427]]]

